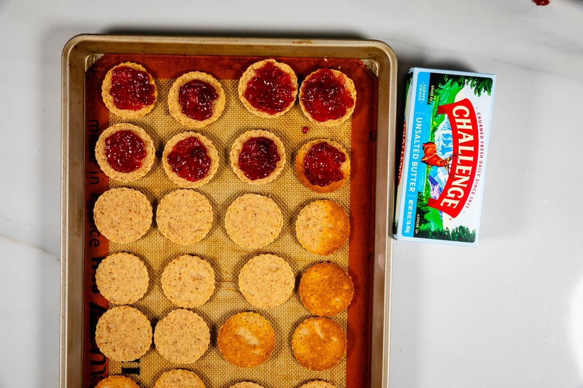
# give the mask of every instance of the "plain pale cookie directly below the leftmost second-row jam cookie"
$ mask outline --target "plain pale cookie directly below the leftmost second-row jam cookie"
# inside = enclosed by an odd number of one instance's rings
[[[101,194],[93,208],[97,230],[114,243],[138,240],[152,225],[152,204],[138,190],[118,187]]]

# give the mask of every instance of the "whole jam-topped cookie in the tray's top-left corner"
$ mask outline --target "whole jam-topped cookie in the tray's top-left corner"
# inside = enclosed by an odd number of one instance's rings
[[[112,67],[101,84],[101,98],[114,115],[141,118],[154,108],[158,91],[145,67],[124,62]]]

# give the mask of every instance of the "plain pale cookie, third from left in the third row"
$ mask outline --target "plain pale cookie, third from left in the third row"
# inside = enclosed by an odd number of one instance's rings
[[[282,231],[283,215],[278,205],[259,194],[245,194],[233,201],[224,216],[227,234],[241,248],[270,244]]]

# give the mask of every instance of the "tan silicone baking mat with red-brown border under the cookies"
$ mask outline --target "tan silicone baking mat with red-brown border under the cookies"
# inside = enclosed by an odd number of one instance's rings
[[[251,63],[265,58],[242,56],[171,56],[107,54],[86,73],[86,166],[85,166],[85,336],[83,351],[84,387],[93,387],[104,376],[124,374],[136,380],[141,387],[153,387],[161,373],[181,368],[194,371],[209,388],[227,388],[240,381],[254,381],[265,388],[299,387],[303,383],[321,379],[338,388],[369,385],[370,379],[370,316],[371,316],[371,258],[374,243],[374,154],[375,106],[377,79],[358,59],[330,58],[275,58],[292,67],[298,81],[321,67],[338,69],[354,80],[357,102],[352,119],[336,127],[311,123],[296,104],[286,115],[275,119],[259,118],[247,112],[237,95],[238,78]],[[101,82],[106,72],[121,62],[141,63],[156,80],[158,101],[152,112],[140,119],[124,119],[110,114],[101,101]],[[209,234],[199,243],[180,245],[163,237],[152,227],[141,239],[129,244],[110,243],[93,223],[93,204],[104,191],[113,187],[136,188],[152,201],[154,214],[157,202],[177,190],[161,166],[160,155],[164,143],[174,134],[188,129],[168,112],[167,93],[174,79],[185,72],[202,71],[219,79],[226,94],[226,106],[216,122],[198,131],[213,141],[219,151],[220,165],[215,177],[203,187],[196,188],[209,199],[214,220]],[[94,146],[99,134],[108,126],[129,122],[141,126],[150,134],[157,151],[157,160],[150,172],[137,181],[123,184],[108,179],[101,172],[94,157]],[[307,133],[303,128],[308,127]],[[271,183],[255,186],[243,183],[231,170],[229,152],[241,133],[252,129],[272,131],[285,146],[286,166]],[[297,150],[315,138],[338,141],[349,150],[351,158],[350,181],[331,194],[316,194],[301,185],[294,170]],[[224,229],[224,213],[238,196],[257,193],[271,197],[280,207],[284,225],[273,243],[259,250],[238,247]],[[297,242],[294,223],[298,212],[311,201],[331,199],[342,205],[350,215],[350,239],[342,250],[322,257],[306,251]],[[154,345],[139,360],[117,362],[100,353],[94,339],[97,320],[110,304],[100,296],[95,285],[95,270],[101,259],[114,252],[131,252],[146,262],[150,275],[146,295],[133,304],[155,327],[177,306],[164,296],[160,276],[164,267],[175,257],[192,254],[207,260],[215,270],[216,289],[208,302],[192,309],[205,319],[210,327],[211,342],[208,351],[193,364],[175,364],[166,361]],[[261,253],[273,253],[285,258],[296,274],[296,289],[284,304],[260,309],[249,304],[238,291],[238,273],[249,259]],[[327,371],[315,372],[304,368],[293,357],[291,335],[296,326],[312,315],[303,307],[297,293],[301,274],[311,265],[331,261],[349,270],[354,282],[354,297],[349,309],[332,319],[347,331],[347,356]],[[112,306],[113,307],[113,306]],[[255,368],[238,368],[227,362],[216,347],[216,333],[229,316],[241,311],[257,311],[273,325],[276,347],[264,364]]]

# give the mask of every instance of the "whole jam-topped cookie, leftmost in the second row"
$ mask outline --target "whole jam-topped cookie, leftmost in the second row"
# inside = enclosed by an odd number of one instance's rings
[[[145,130],[120,123],[101,133],[95,145],[95,158],[108,177],[129,182],[149,172],[156,159],[156,149]]]

